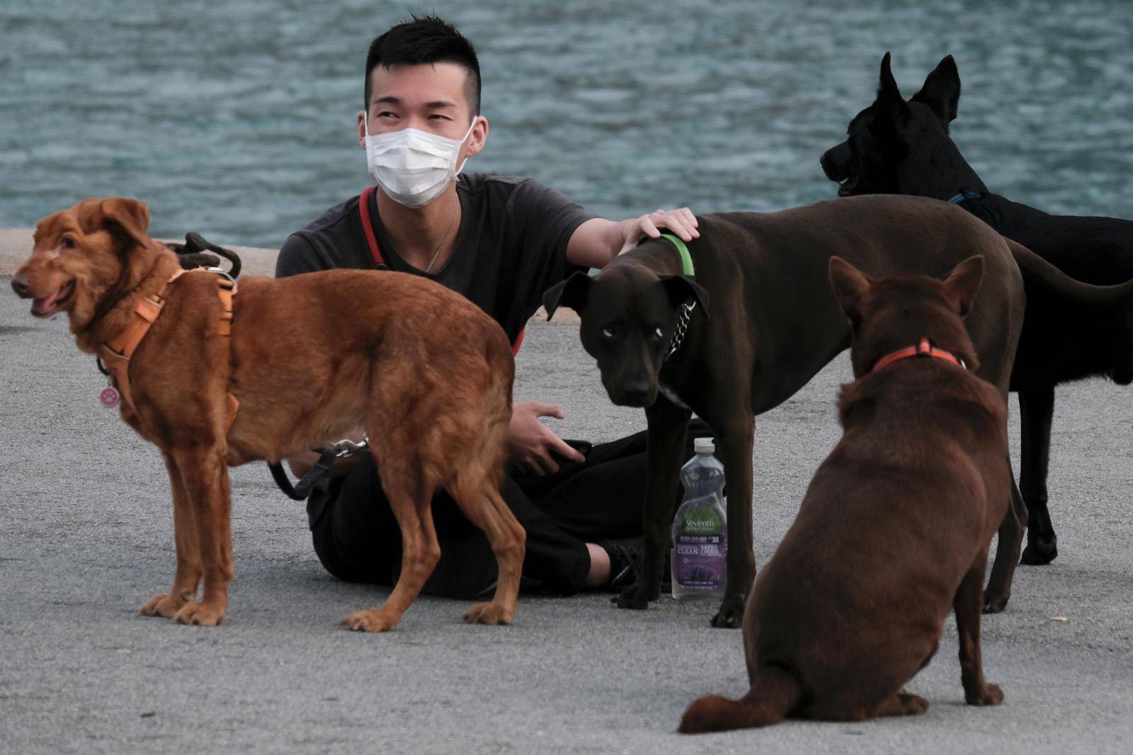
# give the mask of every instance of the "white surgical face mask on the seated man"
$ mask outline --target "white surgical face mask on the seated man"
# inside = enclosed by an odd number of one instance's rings
[[[457,173],[465,167],[463,162],[457,166],[460,147],[476,126],[474,118],[459,139],[417,128],[370,136],[367,114],[361,117],[369,175],[391,200],[407,207],[425,206],[457,180]]]

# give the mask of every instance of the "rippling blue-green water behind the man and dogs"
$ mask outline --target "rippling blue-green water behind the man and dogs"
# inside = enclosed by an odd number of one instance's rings
[[[953,136],[989,188],[1133,217],[1133,8],[1082,2],[431,0],[484,74],[469,170],[533,176],[621,219],[833,196],[818,167],[894,54],[909,96],[946,53]],[[0,227],[91,195],[151,230],[278,246],[367,183],[373,36],[411,2],[3,0]]]

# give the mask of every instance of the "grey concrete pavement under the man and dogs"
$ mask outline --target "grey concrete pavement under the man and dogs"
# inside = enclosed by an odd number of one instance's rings
[[[1133,748],[1133,407],[1100,381],[1058,393],[1051,512],[1060,555],[1020,567],[985,622],[1007,702],[963,704],[955,629],[910,685],[926,715],[786,722],[685,738],[684,707],[747,689],[741,637],[712,606],[605,595],[523,597],[514,625],[469,627],[423,597],[395,633],[338,626],[384,591],[326,575],[303,508],[266,468],[232,472],[238,578],[215,629],[136,613],[173,571],[156,450],[103,409],[103,379],[62,317],[42,322],[0,279],[0,750],[372,753],[1119,753]],[[518,398],[556,400],[555,430],[644,427],[612,407],[570,326],[533,323]],[[764,565],[838,436],[845,357],[758,422],[756,548]],[[1013,409],[1014,413],[1014,409]],[[1013,431],[1017,438],[1017,429]],[[1063,617],[1065,621],[1051,620]]]

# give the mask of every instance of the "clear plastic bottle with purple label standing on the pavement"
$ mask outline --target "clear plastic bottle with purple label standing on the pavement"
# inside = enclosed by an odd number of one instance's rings
[[[684,499],[673,518],[673,597],[721,599],[727,584],[727,512],[724,465],[712,438],[698,438],[697,455],[681,467]]]

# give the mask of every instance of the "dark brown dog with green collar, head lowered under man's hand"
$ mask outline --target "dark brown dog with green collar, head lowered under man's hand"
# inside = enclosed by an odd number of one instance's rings
[[[1066,296],[1118,294],[1066,278],[936,200],[863,196],[698,220],[700,238],[688,245],[695,282],[682,272],[674,244],[653,239],[594,278],[579,273],[548,289],[544,304],[548,312],[566,306],[581,315],[582,345],[597,359],[610,398],[646,409],[646,546],[638,582],[619,596],[620,606],[644,609],[659,596],[690,414],[716,431],[730,544],[727,591],[713,619],[717,627],[740,626],[755,576],[753,417],[790,398],[850,345],[850,328],[827,282],[832,256],[879,277],[940,277],[962,260],[983,256],[983,295],[966,325],[981,356],[978,374],[1004,395],[1023,321],[1020,268]],[[1006,457],[1006,446],[1003,452]],[[1008,562],[1019,558],[1026,520],[1015,489],[1012,502],[999,540],[1000,550],[1014,549]],[[993,571],[989,591],[1010,593],[1010,576]]]

